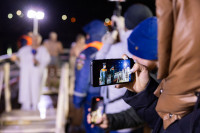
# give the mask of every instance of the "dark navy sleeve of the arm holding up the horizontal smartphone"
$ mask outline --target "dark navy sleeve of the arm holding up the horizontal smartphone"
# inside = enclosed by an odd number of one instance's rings
[[[132,106],[138,116],[149,124],[153,129],[159,116],[155,110],[158,98],[154,95],[158,83],[154,79],[150,79],[147,88],[136,94],[127,91],[124,95],[124,101]]]

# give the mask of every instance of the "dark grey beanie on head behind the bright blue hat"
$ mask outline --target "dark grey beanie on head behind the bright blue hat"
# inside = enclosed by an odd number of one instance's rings
[[[153,14],[147,6],[134,4],[124,14],[125,27],[129,30],[134,29],[140,22],[152,16]]]

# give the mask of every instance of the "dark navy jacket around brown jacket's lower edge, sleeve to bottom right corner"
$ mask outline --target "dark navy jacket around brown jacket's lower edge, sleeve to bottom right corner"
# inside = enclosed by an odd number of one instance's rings
[[[186,115],[181,120],[175,121],[166,130],[163,129],[162,119],[155,110],[158,98],[153,93],[157,86],[158,83],[151,78],[144,91],[138,94],[127,91],[123,99],[135,109],[141,119],[149,124],[153,133],[190,133],[191,129],[194,133],[199,133],[200,122],[197,120],[200,119],[200,109]],[[194,125],[192,125],[193,122]]]

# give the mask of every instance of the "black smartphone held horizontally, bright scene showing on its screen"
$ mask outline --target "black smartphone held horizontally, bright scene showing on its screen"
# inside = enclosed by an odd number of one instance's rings
[[[130,72],[133,59],[93,60],[90,68],[90,80],[94,87],[122,84],[133,81]]]

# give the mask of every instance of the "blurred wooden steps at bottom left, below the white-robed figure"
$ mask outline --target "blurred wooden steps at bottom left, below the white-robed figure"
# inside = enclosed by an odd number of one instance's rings
[[[1,116],[0,133],[55,133],[56,111],[47,110],[41,119],[39,111],[13,110]]]

